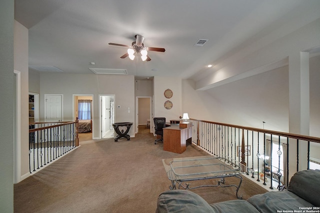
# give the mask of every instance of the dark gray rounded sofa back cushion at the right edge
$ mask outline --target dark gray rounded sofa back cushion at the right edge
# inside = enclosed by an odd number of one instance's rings
[[[320,171],[303,170],[296,172],[288,186],[288,191],[294,193],[300,198],[320,207]]]

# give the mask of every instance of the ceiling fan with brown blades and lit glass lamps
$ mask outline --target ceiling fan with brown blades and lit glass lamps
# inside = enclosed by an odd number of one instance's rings
[[[124,44],[118,44],[118,43],[109,43],[109,45],[115,45],[115,46],[125,46],[128,47],[127,52],[122,55],[120,58],[126,58],[129,56],[131,60],[134,59],[135,54],[141,54],[142,61],[150,61],[151,58],[147,55],[147,51],[156,51],[156,52],[164,52],[164,48],[158,48],[158,47],[144,47],[143,40],[144,37],[142,35],[135,35],[135,41],[132,42],[131,46],[124,45]]]

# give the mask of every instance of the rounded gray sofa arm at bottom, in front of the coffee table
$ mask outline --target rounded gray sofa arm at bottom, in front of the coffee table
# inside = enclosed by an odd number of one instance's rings
[[[187,190],[169,190],[157,200],[156,213],[214,213],[203,198]]]

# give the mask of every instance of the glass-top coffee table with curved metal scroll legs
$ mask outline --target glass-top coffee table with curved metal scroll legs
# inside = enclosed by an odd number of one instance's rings
[[[231,162],[224,158],[217,158],[213,156],[197,156],[187,158],[169,158],[162,159],[162,163],[168,179],[171,181],[172,186],[170,190],[178,189],[180,186],[186,190],[191,190],[199,187],[235,187],[236,198],[242,199],[242,196],[238,196],[238,191],[242,183],[242,177],[240,176],[241,168],[238,162]],[[239,179],[239,184],[225,185],[224,178],[236,177]],[[182,182],[198,181],[206,179],[220,179],[216,185],[201,185],[196,187],[189,187],[186,183],[185,186]]]

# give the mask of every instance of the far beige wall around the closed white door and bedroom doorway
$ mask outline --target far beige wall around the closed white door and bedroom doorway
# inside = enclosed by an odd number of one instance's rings
[[[115,122],[134,124],[134,76],[40,72],[40,121],[44,121],[44,94],[63,95],[63,120],[73,119],[73,94],[93,95],[93,138],[99,137],[99,94],[114,94]],[[118,108],[117,106],[120,106]],[[130,108],[130,113],[128,113]],[[134,128],[129,135],[134,136]]]

